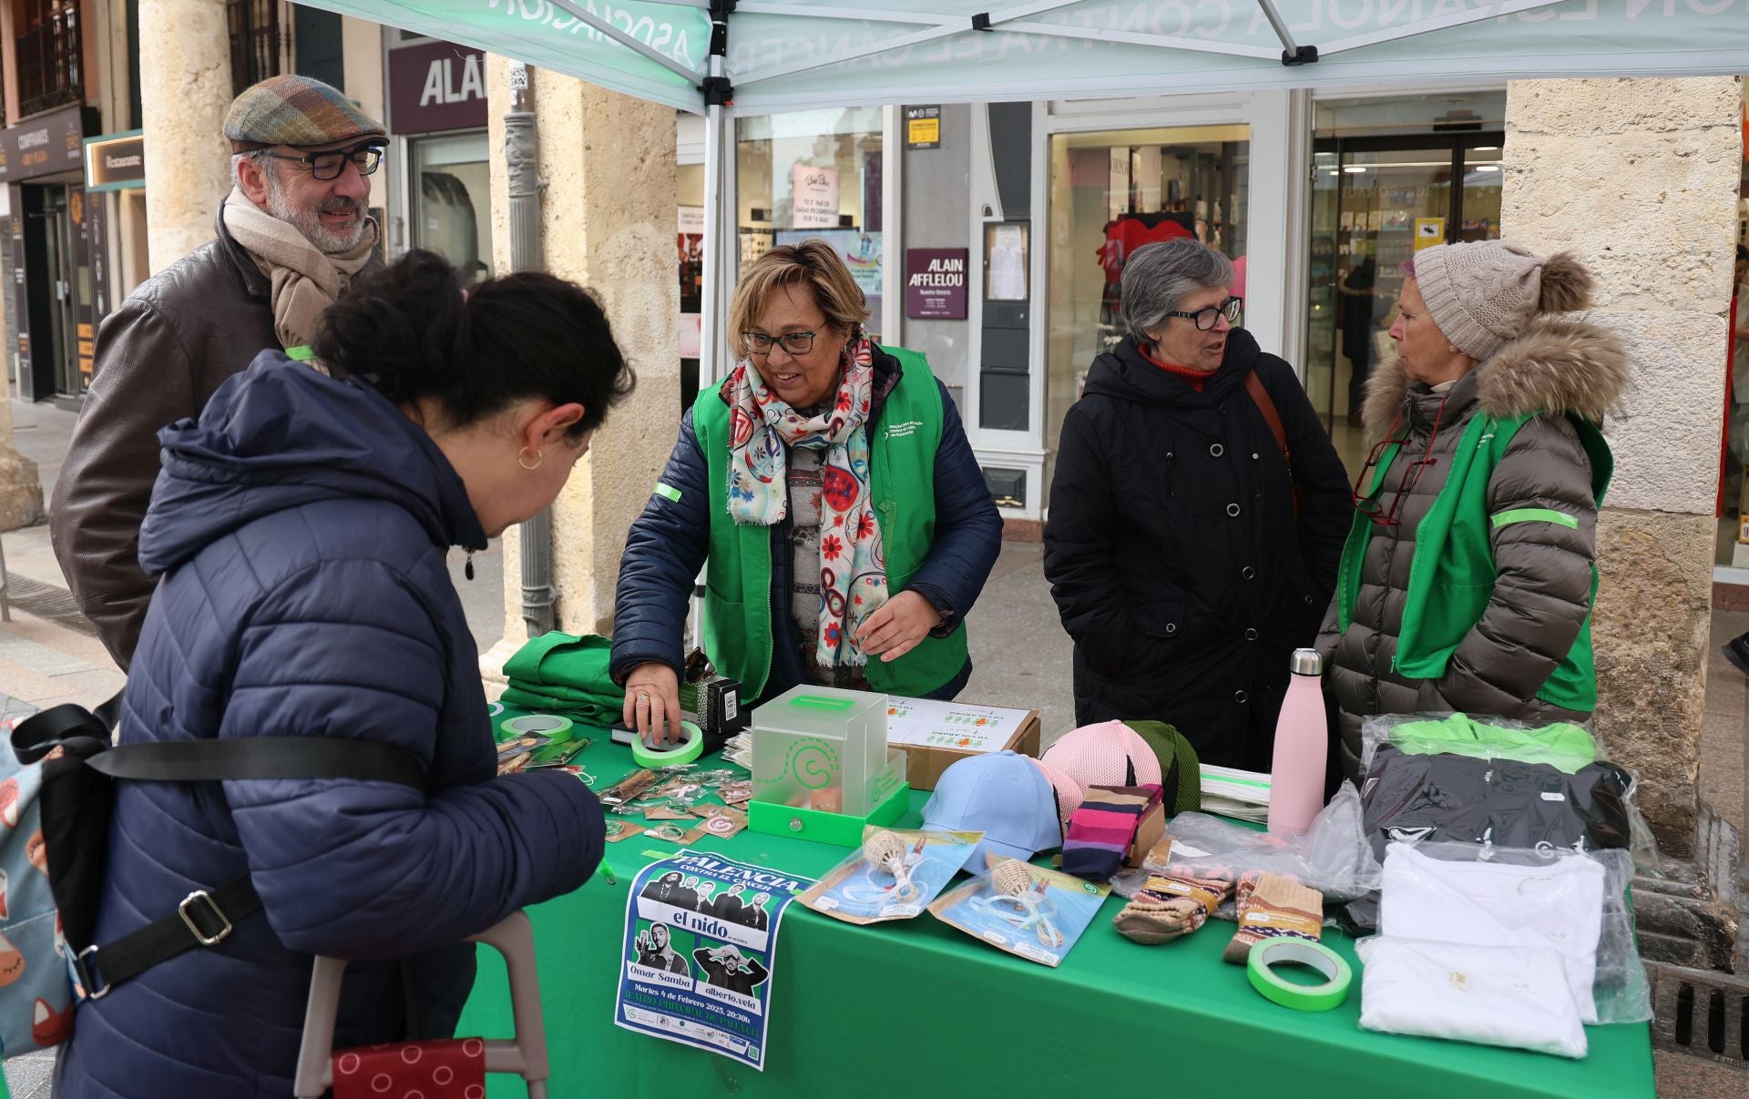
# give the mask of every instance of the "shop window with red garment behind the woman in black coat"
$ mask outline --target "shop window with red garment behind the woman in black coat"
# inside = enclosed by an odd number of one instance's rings
[[[1130,253],[1195,236],[1244,259],[1249,178],[1249,126],[1051,136],[1049,451],[1088,367],[1123,339],[1119,278]]]

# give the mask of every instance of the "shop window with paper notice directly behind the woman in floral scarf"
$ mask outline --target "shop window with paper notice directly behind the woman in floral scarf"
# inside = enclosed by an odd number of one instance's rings
[[[773,245],[819,238],[881,311],[881,108],[736,119],[736,238],[745,266]]]

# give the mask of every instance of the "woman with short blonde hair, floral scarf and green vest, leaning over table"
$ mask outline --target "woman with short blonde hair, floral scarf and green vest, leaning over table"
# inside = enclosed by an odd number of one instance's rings
[[[824,241],[742,274],[740,362],[682,418],[619,563],[610,673],[638,732],[680,734],[701,566],[705,653],[749,704],[799,683],[951,699],[971,676],[965,612],[1002,519],[946,388],[868,314]]]

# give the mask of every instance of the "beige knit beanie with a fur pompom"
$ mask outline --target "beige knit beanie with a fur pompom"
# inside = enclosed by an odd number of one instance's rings
[[[1509,241],[1436,245],[1415,253],[1427,313],[1476,362],[1518,337],[1530,318],[1592,301],[1592,273],[1571,252],[1543,259]]]

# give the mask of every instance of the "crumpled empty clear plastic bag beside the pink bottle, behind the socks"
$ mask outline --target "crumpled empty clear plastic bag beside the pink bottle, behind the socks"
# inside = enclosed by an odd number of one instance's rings
[[[1294,877],[1322,893],[1326,902],[1354,900],[1376,889],[1382,874],[1361,823],[1361,795],[1350,783],[1336,790],[1305,835],[1272,835],[1207,812],[1181,812],[1167,825],[1172,844],[1165,861],[1160,858],[1165,844],[1156,844],[1142,860],[1142,870],[1114,879],[1112,888],[1133,896],[1149,874],[1177,868],[1198,877],[1226,874],[1235,881],[1258,870]],[[1233,902],[1224,902],[1216,916],[1235,919]]]

